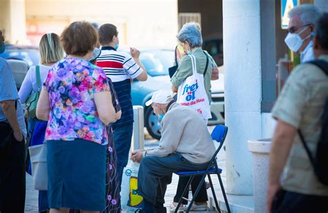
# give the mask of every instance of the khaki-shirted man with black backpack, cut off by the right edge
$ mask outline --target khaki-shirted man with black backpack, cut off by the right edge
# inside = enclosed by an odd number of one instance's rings
[[[295,67],[272,110],[277,126],[268,169],[268,213],[328,212],[328,185],[311,160],[319,159],[325,165],[320,172],[327,171],[327,161],[315,156],[317,150],[327,155],[318,144],[325,137],[327,112],[328,13],[318,19],[313,52],[317,60]]]

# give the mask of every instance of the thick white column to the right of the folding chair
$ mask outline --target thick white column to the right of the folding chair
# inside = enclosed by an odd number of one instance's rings
[[[253,194],[252,158],[247,149],[247,141],[262,137],[259,2],[223,1],[229,194]]]

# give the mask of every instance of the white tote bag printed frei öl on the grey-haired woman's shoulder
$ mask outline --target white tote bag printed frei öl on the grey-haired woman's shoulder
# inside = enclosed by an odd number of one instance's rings
[[[192,76],[185,78],[179,86],[177,103],[194,109],[203,119],[210,119],[212,115],[204,86],[204,76],[197,73],[196,58],[189,56],[192,60]]]

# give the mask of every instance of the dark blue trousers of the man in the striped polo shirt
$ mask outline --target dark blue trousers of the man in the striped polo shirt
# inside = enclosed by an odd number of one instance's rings
[[[122,183],[122,174],[124,167],[127,166],[129,160],[129,151],[131,147],[132,133],[134,123],[125,126],[113,127],[114,145],[116,148],[117,166],[118,166],[118,185]]]

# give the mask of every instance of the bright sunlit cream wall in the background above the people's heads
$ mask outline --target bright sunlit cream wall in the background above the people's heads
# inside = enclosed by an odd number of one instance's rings
[[[86,20],[118,26],[120,44],[174,48],[177,14],[177,0],[26,0],[33,43],[38,34],[60,34],[67,24]]]

